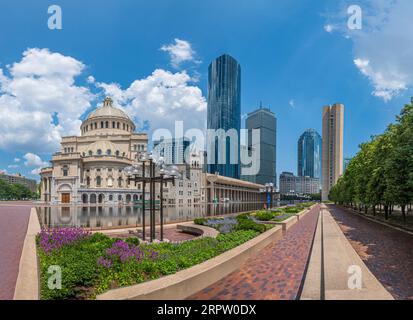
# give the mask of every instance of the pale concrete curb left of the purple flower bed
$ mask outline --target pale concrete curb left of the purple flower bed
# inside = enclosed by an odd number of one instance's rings
[[[39,272],[37,264],[36,235],[40,223],[35,208],[30,211],[29,224],[20,257],[19,274],[14,289],[14,300],[39,299]]]

